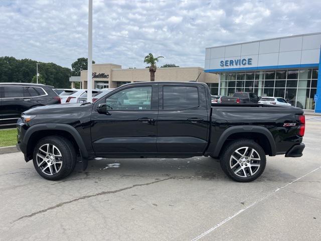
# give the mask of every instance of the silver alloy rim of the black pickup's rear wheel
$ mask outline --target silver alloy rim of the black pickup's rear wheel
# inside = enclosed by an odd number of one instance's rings
[[[254,148],[241,147],[233,152],[230,158],[230,168],[239,177],[250,177],[257,173],[261,158]]]

